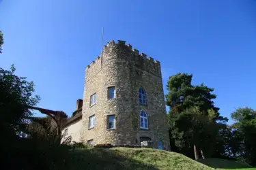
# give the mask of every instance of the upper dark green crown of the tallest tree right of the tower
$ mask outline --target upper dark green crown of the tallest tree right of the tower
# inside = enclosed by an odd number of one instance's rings
[[[169,78],[167,83],[169,93],[166,98],[171,112],[180,113],[189,107],[198,106],[203,114],[208,114],[208,109],[213,109],[216,112],[216,119],[223,120],[223,117],[219,116],[219,108],[215,107],[212,101],[216,99],[216,95],[212,94],[214,88],[208,88],[203,84],[193,86],[192,77],[192,74],[177,73]]]

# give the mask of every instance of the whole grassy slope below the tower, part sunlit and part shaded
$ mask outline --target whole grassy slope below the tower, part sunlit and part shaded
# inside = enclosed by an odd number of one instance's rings
[[[182,154],[154,149],[74,150],[68,169],[212,169]]]

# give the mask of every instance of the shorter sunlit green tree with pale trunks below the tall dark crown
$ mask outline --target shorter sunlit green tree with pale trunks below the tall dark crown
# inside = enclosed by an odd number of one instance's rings
[[[209,110],[209,116],[203,114],[199,107],[190,107],[180,114],[172,114],[171,136],[175,146],[183,152],[194,150],[195,158],[210,157],[213,152],[218,124],[215,123],[215,112]],[[171,114],[169,114],[169,118]]]

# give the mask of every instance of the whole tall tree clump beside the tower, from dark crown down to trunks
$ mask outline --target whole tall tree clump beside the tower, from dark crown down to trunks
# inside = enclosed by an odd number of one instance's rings
[[[214,149],[206,148],[213,148],[218,130],[227,118],[220,116],[219,108],[214,106],[214,89],[203,84],[193,86],[192,77],[187,73],[177,73],[169,78],[167,84],[171,143],[175,143],[180,152],[187,153],[195,148],[197,157],[198,146],[202,157],[204,152],[210,156]]]

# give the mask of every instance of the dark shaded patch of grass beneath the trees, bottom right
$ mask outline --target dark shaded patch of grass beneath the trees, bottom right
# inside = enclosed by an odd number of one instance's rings
[[[220,168],[220,169],[250,168],[250,165],[246,165],[239,161],[225,160],[225,159],[218,159],[218,158],[199,159],[198,162],[204,165],[207,165],[208,167]]]

